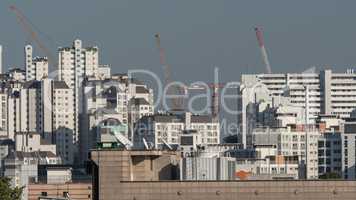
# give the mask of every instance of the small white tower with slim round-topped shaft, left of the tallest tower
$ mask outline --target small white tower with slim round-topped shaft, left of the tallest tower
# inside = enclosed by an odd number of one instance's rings
[[[46,57],[32,57],[33,48],[25,46],[26,81],[41,80],[48,76],[48,59]]]

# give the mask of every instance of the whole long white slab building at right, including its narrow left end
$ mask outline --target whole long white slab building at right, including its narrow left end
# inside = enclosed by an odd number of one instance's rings
[[[319,114],[350,117],[356,108],[356,73],[321,72],[287,74],[244,74],[240,87],[240,134],[242,138],[250,134],[248,130],[248,105],[258,100],[271,104],[288,97],[290,105],[305,108],[305,122],[311,124]],[[246,139],[242,139],[246,143]]]

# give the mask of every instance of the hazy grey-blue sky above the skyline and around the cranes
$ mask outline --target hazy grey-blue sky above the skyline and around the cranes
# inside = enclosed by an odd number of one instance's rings
[[[264,72],[254,25],[264,28],[273,72],[313,65],[344,71],[356,64],[354,0],[1,0],[7,67],[23,66],[23,46],[30,41],[11,4],[40,30],[54,54],[57,46],[80,38],[84,45],[98,45],[101,63],[114,72],[137,67],[161,72],[156,32],[174,79],[211,81],[214,66],[226,81]],[[44,54],[35,46],[35,55]]]

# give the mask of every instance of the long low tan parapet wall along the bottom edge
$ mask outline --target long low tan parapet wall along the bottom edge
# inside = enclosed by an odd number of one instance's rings
[[[347,200],[355,197],[356,181],[122,182],[116,195],[106,193],[100,200]]]

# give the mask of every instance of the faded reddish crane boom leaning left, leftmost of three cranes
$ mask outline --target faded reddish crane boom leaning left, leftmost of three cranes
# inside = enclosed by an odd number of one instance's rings
[[[38,39],[37,33],[32,30],[31,28],[31,23],[27,19],[27,17],[19,10],[16,6],[11,5],[9,9],[15,13],[16,18],[18,22],[21,24],[22,28],[24,29],[25,32],[27,32],[32,40],[36,43],[38,48],[41,49],[41,51],[47,56],[48,63],[52,62],[54,65],[53,67],[56,66],[56,59],[51,54],[51,51],[49,51],[45,45],[42,44],[42,42]]]

